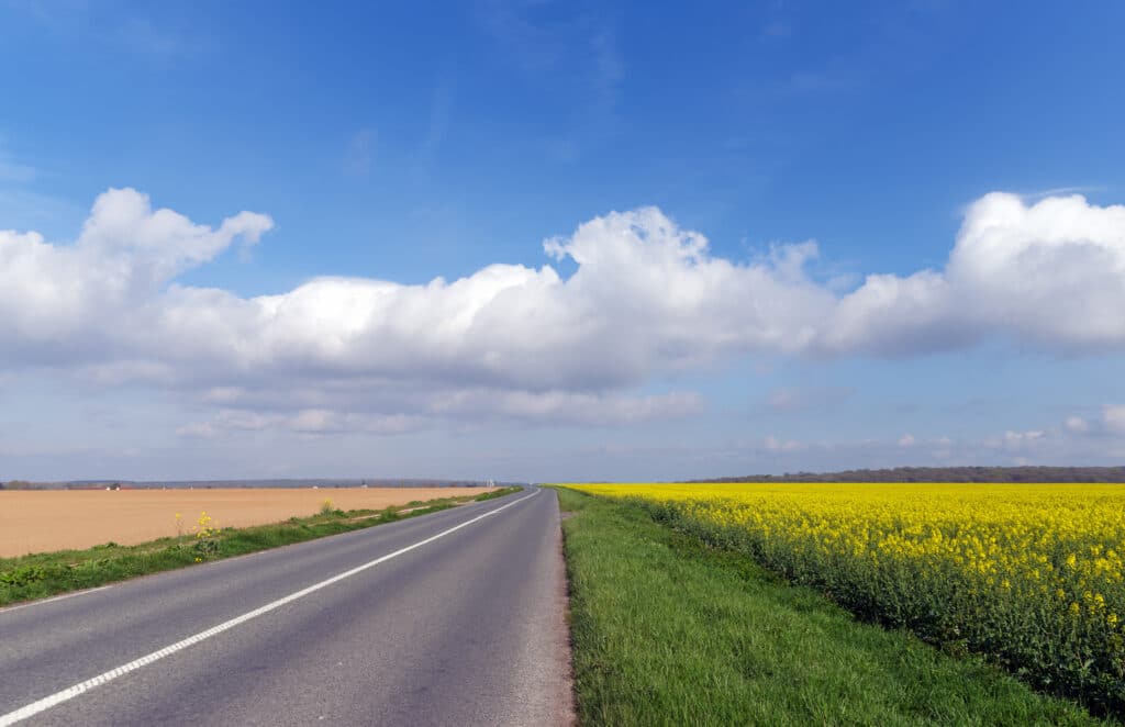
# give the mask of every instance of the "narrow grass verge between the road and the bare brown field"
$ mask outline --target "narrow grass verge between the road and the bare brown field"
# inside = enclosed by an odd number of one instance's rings
[[[161,538],[135,546],[107,542],[86,550],[58,550],[18,558],[0,558],[0,607],[91,589],[138,575],[182,568],[204,560],[230,558],[362,530],[386,522],[448,510],[466,502],[503,497],[519,490],[519,487],[502,487],[476,496],[415,501],[384,510],[344,512],[325,509],[310,518],[290,518],[285,522],[251,528],[210,530],[202,538],[197,536]]]

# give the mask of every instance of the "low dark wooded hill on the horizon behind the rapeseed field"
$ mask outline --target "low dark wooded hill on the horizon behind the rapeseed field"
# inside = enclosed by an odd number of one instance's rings
[[[691,482],[1107,482],[1125,483],[1125,467],[894,467],[829,473],[747,475]]]

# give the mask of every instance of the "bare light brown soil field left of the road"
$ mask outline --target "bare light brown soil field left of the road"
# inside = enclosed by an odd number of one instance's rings
[[[325,500],[340,510],[381,510],[415,500],[478,495],[492,487],[286,490],[0,491],[0,557],[135,545],[190,535],[200,512],[213,528],[242,528],[316,514]],[[177,527],[176,515],[182,518]]]

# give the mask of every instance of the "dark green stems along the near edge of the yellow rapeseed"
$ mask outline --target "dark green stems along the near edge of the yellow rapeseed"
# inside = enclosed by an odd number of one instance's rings
[[[922,571],[888,555],[883,567],[874,567],[798,537],[723,523],[708,515],[708,503],[630,502],[656,522],[816,589],[865,621],[910,630],[948,654],[982,655],[1038,689],[1078,699],[1099,715],[1125,717],[1120,632],[1107,628],[1104,616],[1060,611],[1053,593],[1037,599],[984,593],[950,560],[927,560]]]

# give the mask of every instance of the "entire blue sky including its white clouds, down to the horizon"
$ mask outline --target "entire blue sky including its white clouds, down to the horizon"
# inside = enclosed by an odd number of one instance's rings
[[[0,0],[0,479],[1120,464],[1123,26]]]

